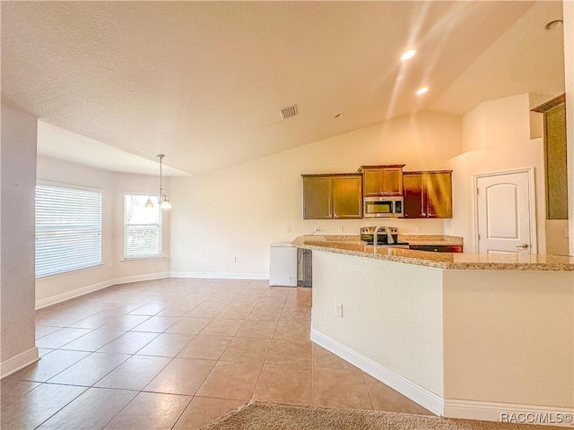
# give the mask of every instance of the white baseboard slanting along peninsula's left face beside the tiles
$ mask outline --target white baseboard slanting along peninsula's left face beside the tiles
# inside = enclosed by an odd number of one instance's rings
[[[311,340],[317,343],[317,345],[328,349],[336,356],[359,367],[363,372],[370,374],[381,383],[387,384],[423,408],[429,409],[433,414],[439,416],[444,414],[444,400],[438,394],[427,390],[417,383],[413,383],[413,381],[404,378],[404,376],[400,374],[396,374],[384,366],[380,366],[370,358],[361,356],[361,354],[353,351],[351,348],[347,348],[313,329],[311,329]]]

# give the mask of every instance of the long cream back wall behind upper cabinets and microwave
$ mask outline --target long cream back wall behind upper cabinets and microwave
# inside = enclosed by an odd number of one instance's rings
[[[326,234],[340,228],[359,234],[362,226],[387,222],[400,233],[440,234],[442,219],[304,220],[300,175],[353,172],[370,164],[448,168],[447,160],[462,150],[461,130],[457,116],[422,112],[211,174],[172,178],[171,270],[265,277],[270,243],[317,227]]]

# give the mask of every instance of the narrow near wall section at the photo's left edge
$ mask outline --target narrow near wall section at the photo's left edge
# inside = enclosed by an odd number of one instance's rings
[[[34,342],[36,117],[2,106],[2,376],[37,359]]]

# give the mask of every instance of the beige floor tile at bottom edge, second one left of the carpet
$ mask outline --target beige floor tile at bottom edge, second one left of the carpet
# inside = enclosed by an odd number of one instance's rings
[[[187,408],[189,396],[140,392],[106,430],[169,429]]]

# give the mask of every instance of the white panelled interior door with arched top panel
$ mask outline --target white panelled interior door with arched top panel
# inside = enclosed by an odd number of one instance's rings
[[[532,253],[534,202],[528,172],[479,176],[476,185],[479,253]]]

